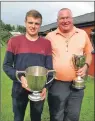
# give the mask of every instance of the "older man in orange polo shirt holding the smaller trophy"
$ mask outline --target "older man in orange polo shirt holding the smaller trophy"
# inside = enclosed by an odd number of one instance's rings
[[[77,75],[85,76],[91,64],[93,50],[84,30],[73,25],[72,12],[63,8],[58,12],[58,28],[46,38],[51,41],[53,68],[56,71],[54,83],[48,90],[50,121],[79,121],[84,90],[72,88]],[[72,64],[72,55],[86,55],[85,65],[77,72]]]

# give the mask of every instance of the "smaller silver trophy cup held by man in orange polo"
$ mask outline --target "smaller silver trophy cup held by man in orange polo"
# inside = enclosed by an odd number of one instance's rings
[[[72,57],[72,62],[73,62],[74,68],[78,70],[79,68],[83,67],[85,64],[85,56],[74,54]],[[72,86],[75,89],[84,89],[85,88],[84,79],[80,76],[77,76],[73,81]]]

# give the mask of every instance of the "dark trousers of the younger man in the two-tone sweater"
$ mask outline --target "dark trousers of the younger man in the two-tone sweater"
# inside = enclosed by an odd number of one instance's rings
[[[24,121],[25,110],[28,103],[28,97],[13,98],[14,121]],[[41,121],[44,101],[30,101],[31,121]]]

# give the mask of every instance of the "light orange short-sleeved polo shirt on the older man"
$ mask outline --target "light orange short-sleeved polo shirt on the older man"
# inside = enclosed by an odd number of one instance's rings
[[[72,81],[76,77],[72,55],[88,54],[93,50],[88,35],[84,30],[74,26],[68,37],[57,28],[48,33],[46,38],[51,41],[52,45],[53,68],[56,71],[56,79]],[[68,48],[66,47],[67,40]]]

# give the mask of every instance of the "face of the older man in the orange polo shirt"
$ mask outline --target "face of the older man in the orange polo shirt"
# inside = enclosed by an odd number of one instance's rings
[[[62,32],[70,32],[73,27],[72,14],[69,10],[61,10],[58,14],[58,27]]]

